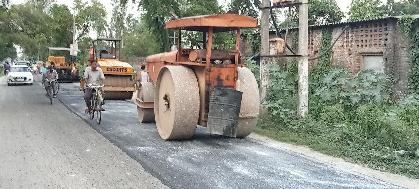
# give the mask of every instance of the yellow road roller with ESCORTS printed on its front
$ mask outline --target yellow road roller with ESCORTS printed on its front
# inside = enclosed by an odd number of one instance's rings
[[[105,99],[127,100],[135,92],[135,73],[131,65],[119,61],[121,39],[98,38],[93,40],[91,58],[98,60],[98,64],[105,74]],[[89,65],[90,66],[90,62]],[[80,81],[84,89],[84,81]]]

